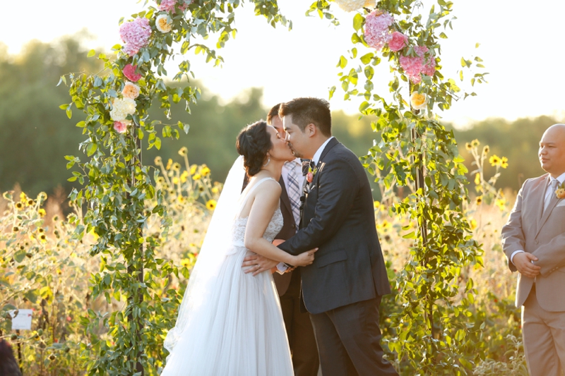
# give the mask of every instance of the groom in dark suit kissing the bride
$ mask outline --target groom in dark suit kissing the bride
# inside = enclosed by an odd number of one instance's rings
[[[295,156],[312,160],[300,230],[278,247],[292,255],[319,248],[301,273],[322,374],[397,375],[380,344],[379,304],[391,288],[367,174],[332,137],[325,100],[292,99],[281,104],[279,116]]]

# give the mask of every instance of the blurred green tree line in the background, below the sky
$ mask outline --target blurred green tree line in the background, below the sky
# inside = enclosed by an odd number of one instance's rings
[[[66,181],[71,173],[66,170],[64,156],[78,154],[78,144],[85,136],[75,124],[83,119],[77,112],[69,120],[59,109],[69,97],[67,88],[57,83],[65,73],[100,71],[100,63],[86,57],[84,37],[82,33],[50,43],[32,41],[15,56],[6,54],[6,47],[0,45],[0,191],[10,190],[16,183],[30,195],[51,193],[57,186],[69,192],[73,187]],[[143,150],[143,159],[147,164],[157,155],[165,161],[176,160],[177,150],[186,146],[191,163],[207,164],[213,178],[223,181],[237,157],[237,133],[246,124],[265,119],[269,106],[263,104],[260,88],[251,88],[225,104],[206,87],[201,88],[202,98],[191,107],[191,114],[179,104],[172,107],[172,119],[167,120],[161,109],[152,109],[151,119],[169,124],[182,121],[191,128],[188,135],[181,132],[179,140],[163,140],[161,150]],[[332,115],[334,135],[357,155],[366,154],[373,140],[379,140],[371,130],[371,119],[343,111]],[[553,123],[557,120],[550,116],[487,119],[453,132],[470,171],[474,166],[470,165],[466,142],[480,140],[492,153],[508,157],[509,166],[497,184],[518,190],[525,178],[542,174],[537,143]]]

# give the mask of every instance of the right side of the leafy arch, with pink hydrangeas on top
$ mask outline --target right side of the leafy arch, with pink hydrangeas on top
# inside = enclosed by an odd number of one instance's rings
[[[397,328],[388,340],[396,353],[393,361],[421,375],[469,374],[480,359],[482,328],[468,321],[476,291],[464,270],[482,265],[482,249],[472,239],[464,215],[468,170],[453,132],[434,114],[435,109],[449,109],[453,99],[475,95],[461,93],[455,80],[441,74],[440,41],[451,29],[453,2],[437,0],[427,20],[417,0],[382,0],[371,8],[364,8],[370,1],[335,3],[357,11],[351,37],[356,47],[348,51],[349,60],[341,56],[338,62],[340,68],[353,65],[339,73],[344,99],[362,98],[359,111],[376,118],[371,126],[381,137],[362,162],[371,174],[381,170],[376,181],[382,176],[387,189],[412,190],[389,209],[391,215],[408,216],[415,224],[404,229],[404,237],[413,238],[414,245],[395,282],[400,310],[391,315],[391,327]],[[308,13],[338,24],[330,6],[316,1]],[[359,53],[357,46],[367,53]],[[383,59],[393,73],[388,84],[391,102],[374,93],[374,66]],[[461,66],[481,70],[481,62],[478,56],[462,58]],[[463,70],[458,73],[463,81]],[[486,74],[472,72],[471,85],[486,82]],[[335,90],[331,88],[331,96]]]

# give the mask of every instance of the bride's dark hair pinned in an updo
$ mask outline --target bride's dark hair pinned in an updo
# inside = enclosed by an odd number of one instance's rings
[[[254,176],[261,171],[263,161],[273,147],[267,131],[267,122],[260,120],[243,128],[237,136],[235,147],[237,152],[243,155],[247,176]]]

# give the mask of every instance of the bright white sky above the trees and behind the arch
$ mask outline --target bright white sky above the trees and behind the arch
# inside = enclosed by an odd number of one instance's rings
[[[149,0],[151,1],[151,0]],[[189,53],[196,78],[225,100],[247,87],[264,87],[266,107],[292,97],[328,97],[328,87],[338,82],[335,68],[341,54],[352,47],[354,13],[335,11],[338,28],[328,20],[307,18],[313,0],[279,0],[293,22],[293,30],[273,29],[264,18],[254,16],[252,4],[237,12],[238,34],[220,50],[222,68],[207,65],[202,55]],[[453,0],[453,31],[442,47],[444,75],[455,77],[460,58],[478,55],[484,60],[489,84],[476,87],[477,97],[457,102],[441,116],[464,126],[491,116],[517,119],[553,115],[565,119],[565,1],[545,0]],[[95,35],[89,48],[105,49],[120,41],[118,20],[141,11],[136,0],[28,0],[33,11],[0,23],[0,42],[16,54],[32,39],[49,42],[87,28]],[[334,5],[333,5],[334,6]],[[337,7],[336,7],[337,8]],[[427,11],[425,11],[427,14]],[[23,20],[24,18],[25,20]],[[481,44],[475,49],[475,43]],[[169,73],[176,73],[169,66]],[[376,92],[388,92],[388,64],[376,71]],[[340,90],[331,100],[333,109],[355,112],[361,100],[344,102]]]

